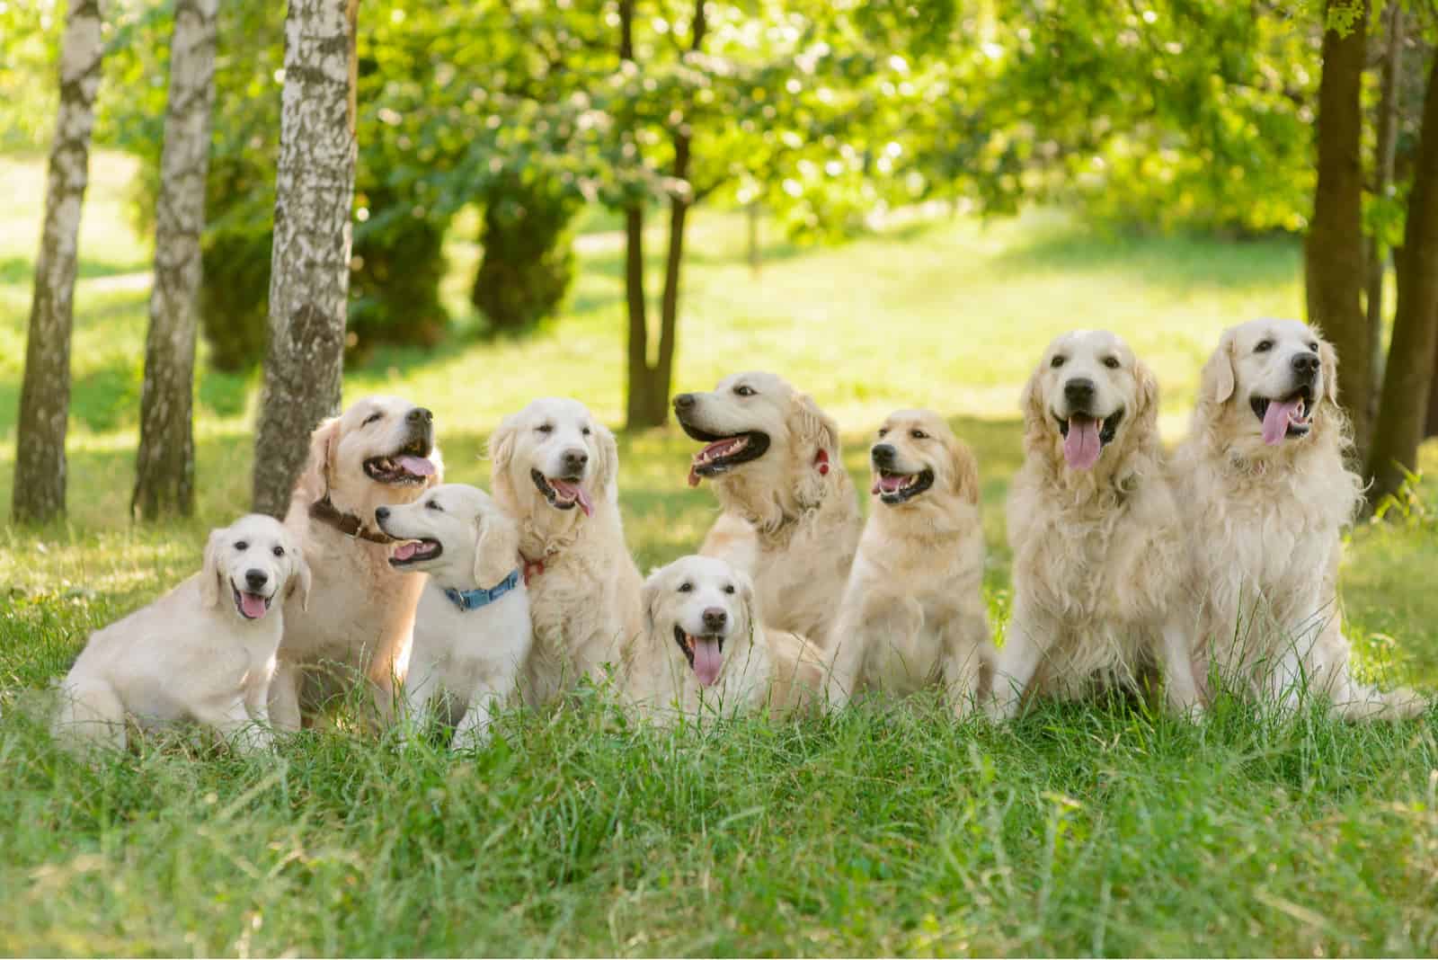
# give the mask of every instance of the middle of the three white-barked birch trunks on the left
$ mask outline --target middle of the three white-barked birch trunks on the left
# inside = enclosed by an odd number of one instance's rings
[[[139,450],[129,506],[142,519],[194,510],[194,333],[200,299],[204,178],[210,168],[214,33],[220,0],[175,0],[170,102],[155,208]]]

